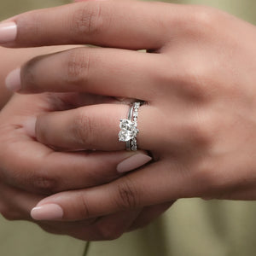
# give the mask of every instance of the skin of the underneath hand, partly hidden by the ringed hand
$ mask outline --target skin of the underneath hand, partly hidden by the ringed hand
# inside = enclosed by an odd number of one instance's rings
[[[45,195],[108,183],[121,175],[116,172],[119,161],[133,153],[58,153],[53,148],[35,141],[26,126],[35,116],[42,113],[103,102],[123,102],[110,97],[77,93],[44,93],[34,96],[15,94],[9,101],[12,93],[3,86],[6,75],[22,62],[37,55],[52,54],[70,48],[71,46],[0,48],[0,54],[7,60],[0,68],[0,102],[4,106],[0,112],[0,212],[4,218],[29,220],[51,233],[74,236],[86,241],[109,240],[121,236],[126,231],[147,225],[171,207],[172,202],[154,207],[139,207],[101,218],[83,219],[75,223],[32,219],[32,207]]]

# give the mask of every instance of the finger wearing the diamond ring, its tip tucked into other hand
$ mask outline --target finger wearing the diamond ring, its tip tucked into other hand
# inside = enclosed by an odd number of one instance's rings
[[[125,143],[119,142],[119,119],[127,118],[128,110],[128,106],[121,104],[102,104],[44,114],[37,119],[36,137],[38,142],[61,150],[122,150]],[[160,137],[155,136],[158,134],[157,119],[153,107],[143,105],[139,108],[139,148],[152,150],[160,145]]]

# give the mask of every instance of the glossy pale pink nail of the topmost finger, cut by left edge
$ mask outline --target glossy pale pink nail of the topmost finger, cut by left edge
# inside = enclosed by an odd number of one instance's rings
[[[6,44],[15,41],[17,36],[17,25],[15,22],[0,23],[0,44]]]

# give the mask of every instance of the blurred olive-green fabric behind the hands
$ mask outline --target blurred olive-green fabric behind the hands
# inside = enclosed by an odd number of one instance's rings
[[[28,9],[68,3],[61,0],[1,0],[0,19]],[[180,0],[223,9],[256,24],[255,0]],[[253,256],[256,202],[180,200],[143,230],[116,241],[91,242],[87,256]],[[85,242],[49,235],[35,224],[0,218],[0,255],[82,256]]]

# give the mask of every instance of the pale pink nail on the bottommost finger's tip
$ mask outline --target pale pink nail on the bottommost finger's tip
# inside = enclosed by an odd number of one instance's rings
[[[56,220],[63,217],[63,209],[59,205],[46,204],[41,207],[34,207],[31,217],[36,220]]]

